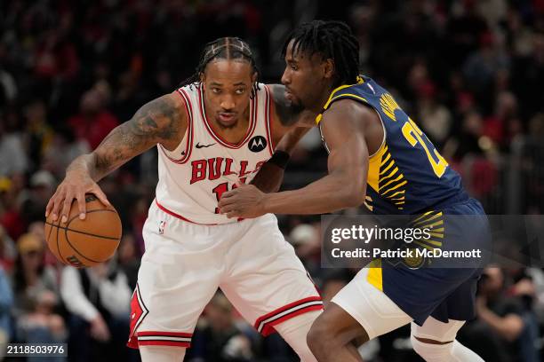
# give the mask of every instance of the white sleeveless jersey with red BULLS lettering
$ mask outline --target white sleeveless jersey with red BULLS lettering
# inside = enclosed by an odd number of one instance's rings
[[[172,152],[157,146],[156,203],[165,212],[196,224],[236,222],[219,214],[217,206],[222,193],[232,190],[237,180],[248,184],[273,153],[268,88],[260,84],[250,101],[249,127],[238,145],[214,132],[199,84],[180,88],[178,93],[187,107],[188,128]]]

